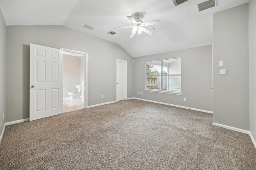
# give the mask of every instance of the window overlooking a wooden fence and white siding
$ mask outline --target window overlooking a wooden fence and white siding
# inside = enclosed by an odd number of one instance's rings
[[[146,62],[146,89],[181,95],[181,59],[165,59]]]

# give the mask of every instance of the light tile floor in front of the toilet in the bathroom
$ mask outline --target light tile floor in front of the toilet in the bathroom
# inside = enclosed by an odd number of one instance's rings
[[[84,104],[81,99],[69,100],[63,99],[63,113],[68,111],[74,111],[84,108]]]

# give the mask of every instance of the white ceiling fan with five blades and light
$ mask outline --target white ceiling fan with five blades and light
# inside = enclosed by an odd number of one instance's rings
[[[136,17],[136,19],[134,19],[132,16],[127,16],[127,18],[130,21],[132,21],[132,26],[118,27],[118,28],[115,28],[115,29],[132,28],[132,34],[131,34],[130,38],[133,38],[136,33],[137,33],[137,38],[138,38],[139,34],[142,33],[142,31],[144,33],[147,33],[150,36],[154,35],[154,33],[149,31],[148,29],[146,29],[144,26],[156,25],[156,24],[160,23],[160,20],[153,20],[153,21],[148,21],[148,22],[143,23],[142,20],[140,20],[140,15],[139,14],[137,14],[135,17]]]

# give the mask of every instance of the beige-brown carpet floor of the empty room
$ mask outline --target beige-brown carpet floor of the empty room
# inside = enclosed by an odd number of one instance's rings
[[[256,169],[249,135],[139,100],[6,126],[0,169]]]

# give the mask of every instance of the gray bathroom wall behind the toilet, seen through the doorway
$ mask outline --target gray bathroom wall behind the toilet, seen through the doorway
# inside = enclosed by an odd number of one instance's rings
[[[76,84],[80,84],[80,57],[63,55],[63,98],[77,91]]]

